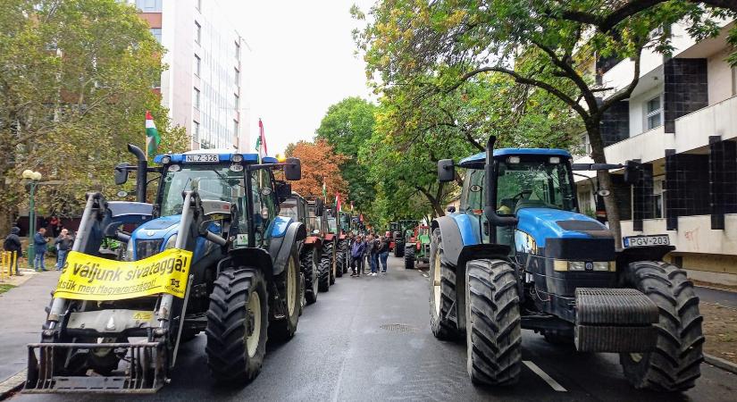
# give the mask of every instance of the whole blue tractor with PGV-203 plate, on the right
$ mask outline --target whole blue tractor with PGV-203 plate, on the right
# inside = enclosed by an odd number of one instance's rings
[[[583,352],[614,352],[637,389],[693,387],[703,360],[699,298],[662,261],[674,247],[620,249],[604,224],[579,213],[574,170],[560,149],[493,149],[465,168],[460,211],[431,222],[431,329],[465,336],[474,383],[515,383],[522,330]],[[440,181],[456,179],[452,160]],[[648,242],[642,242],[648,244]]]

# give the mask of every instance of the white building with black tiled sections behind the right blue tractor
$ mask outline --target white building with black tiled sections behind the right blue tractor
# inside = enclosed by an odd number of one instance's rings
[[[737,69],[722,34],[696,42],[675,24],[670,57],[645,50],[632,96],[606,113],[608,163],[639,161],[634,185],[614,172],[623,236],[668,234],[667,258],[691,278],[737,284]],[[621,90],[630,60],[599,60],[598,80]],[[589,157],[576,162],[590,162]],[[582,210],[594,211],[592,180],[578,183]]]

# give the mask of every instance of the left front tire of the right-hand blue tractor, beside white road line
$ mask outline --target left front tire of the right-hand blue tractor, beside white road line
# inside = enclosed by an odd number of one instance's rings
[[[514,384],[522,360],[515,270],[504,260],[473,260],[465,281],[468,375],[474,384]]]

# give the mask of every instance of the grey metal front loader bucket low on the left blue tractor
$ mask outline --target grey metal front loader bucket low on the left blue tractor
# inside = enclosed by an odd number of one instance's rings
[[[28,348],[29,368],[23,393],[153,394],[166,381],[163,342],[33,343]],[[118,375],[57,374],[63,367],[54,367],[55,355],[66,356],[70,349],[91,351],[96,348],[114,348],[119,354],[125,352],[130,365]]]

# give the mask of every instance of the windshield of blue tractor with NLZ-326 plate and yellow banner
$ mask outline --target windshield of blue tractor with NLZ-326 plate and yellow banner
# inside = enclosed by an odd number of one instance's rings
[[[180,171],[169,171],[163,177],[158,198],[161,216],[181,214],[184,198],[181,192],[196,189],[202,199],[231,201],[245,195],[243,172],[231,172],[229,166],[180,165]]]

